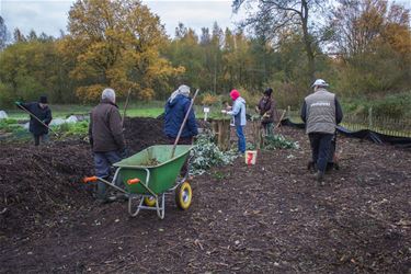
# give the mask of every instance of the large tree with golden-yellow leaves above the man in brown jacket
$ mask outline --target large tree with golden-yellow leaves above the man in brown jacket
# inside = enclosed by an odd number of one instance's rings
[[[60,49],[66,61],[76,59],[70,77],[83,100],[96,99],[107,85],[119,95],[130,89],[148,100],[182,71],[159,55],[167,42],[164,28],[138,0],[78,0],[68,31]]]

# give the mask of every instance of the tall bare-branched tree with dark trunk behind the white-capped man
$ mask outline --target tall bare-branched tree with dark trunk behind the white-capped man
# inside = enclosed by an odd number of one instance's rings
[[[250,0],[249,0],[250,1]],[[248,0],[233,0],[235,11]],[[326,37],[327,27],[320,27],[327,0],[258,0],[258,12],[250,15],[244,25],[252,25],[259,34],[270,35],[274,39],[284,31],[301,33],[308,61],[308,76],[315,79],[315,58],[318,44]],[[316,20],[311,19],[316,14]]]

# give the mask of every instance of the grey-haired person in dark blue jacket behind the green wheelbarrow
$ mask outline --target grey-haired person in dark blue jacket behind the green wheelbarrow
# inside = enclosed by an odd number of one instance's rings
[[[164,134],[174,144],[185,114],[191,104],[190,87],[182,84],[167,100],[164,112]],[[179,145],[192,145],[193,137],[198,134],[194,110],[191,109],[187,121],[181,133]]]

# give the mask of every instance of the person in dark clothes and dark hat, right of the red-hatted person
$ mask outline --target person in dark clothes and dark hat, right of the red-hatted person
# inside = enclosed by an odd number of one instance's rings
[[[261,127],[264,128],[265,136],[273,136],[273,124],[274,121],[278,119],[278,113],[275,107],[275,102],[271,98],[273,89],[269,88],[264,91],[259,104],[255,106],[255,111],[261,116]]]

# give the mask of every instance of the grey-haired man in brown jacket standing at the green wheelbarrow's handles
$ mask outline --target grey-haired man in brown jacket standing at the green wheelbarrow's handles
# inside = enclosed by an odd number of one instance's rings
[[[115,104],[115,92],[105,89],[101,102],[90,114],[89,137],[94,156],[95,175],[109,179],[111,167],[126,157],[122,117]],[[114,199],[107,197],[104,183],[98,183],[98,198],[101,203]]]

